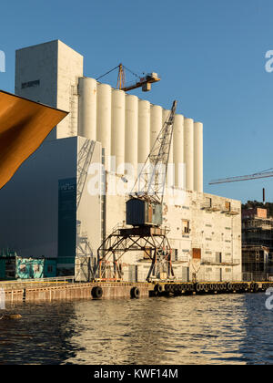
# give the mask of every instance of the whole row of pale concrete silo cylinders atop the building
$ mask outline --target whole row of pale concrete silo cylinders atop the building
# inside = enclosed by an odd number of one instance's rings
[[[102,143],[106,170],[123,174],[124,164],[129,163],[136,175],[137,165],[147,160],[169,110],[94,78],[79,78],[78,93],[78,135]],[[187,190],[203,191],[202,123],[176,115],[169,163],[174,164],[176,186],[183,185],[183,177]]]

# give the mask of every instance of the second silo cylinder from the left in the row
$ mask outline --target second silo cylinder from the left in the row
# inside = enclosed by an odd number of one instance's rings
[[[96,98],[96,140],[106,150],[106,170],[110,169],[111,155],[111,104],[112,88],[107,84],[97,84]]]

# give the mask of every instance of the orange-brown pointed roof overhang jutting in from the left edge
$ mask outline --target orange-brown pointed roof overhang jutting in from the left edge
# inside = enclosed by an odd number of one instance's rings
[[[67,114],[0,90],[0,189]]]

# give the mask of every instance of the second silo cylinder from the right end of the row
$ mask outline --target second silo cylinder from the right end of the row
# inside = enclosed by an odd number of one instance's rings
[[[184,119],[184,160],[186,162],[186,189],[194,190],[194,121]]]

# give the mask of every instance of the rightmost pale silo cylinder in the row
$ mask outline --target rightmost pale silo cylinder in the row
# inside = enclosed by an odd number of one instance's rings
[[[203,192],[203,124],[194,124],[194,190]]]

